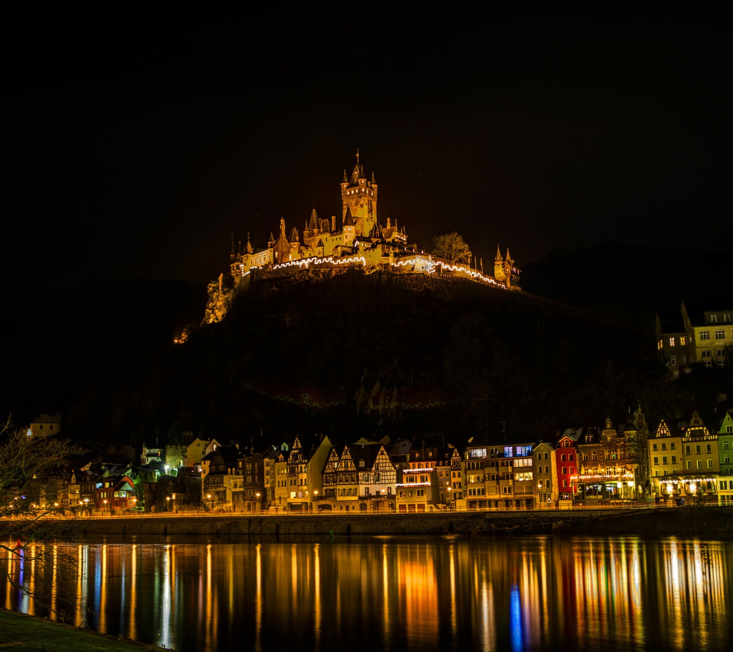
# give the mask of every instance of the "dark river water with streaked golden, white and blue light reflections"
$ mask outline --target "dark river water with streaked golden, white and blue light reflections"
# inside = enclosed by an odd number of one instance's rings
[[[73,593],[76,624],[181,652],[720,652],[733,642],[731,541],[128,537],[46,552],[72,555],[81,575],[26,563],[16,581]],[[0,605],[48,614],[5,582]]]

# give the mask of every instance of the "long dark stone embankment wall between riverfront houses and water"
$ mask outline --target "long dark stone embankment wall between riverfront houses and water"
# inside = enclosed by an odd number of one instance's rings
[[[367,516],[136,516],[81,521],[87,535],[733,535],[731,508]]]

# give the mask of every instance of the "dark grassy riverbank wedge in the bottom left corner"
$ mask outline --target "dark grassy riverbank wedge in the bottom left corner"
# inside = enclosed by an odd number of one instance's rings
[[[2,608],[0,648],[23,652],[132,652],[161,649]]]

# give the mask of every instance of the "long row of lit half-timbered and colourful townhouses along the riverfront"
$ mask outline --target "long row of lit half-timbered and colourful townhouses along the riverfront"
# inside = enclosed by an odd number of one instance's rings
[[[649,433],[632,420],[567,428],[550,439],[441,436],[331,442],[295,436],[240,452],[221,445],[202,460],[209,509],[359,510],[571,508],[599,501],[733,496],[733,417],[713,432],[694,413]],[[729,477],[726,477],[729,476]]]

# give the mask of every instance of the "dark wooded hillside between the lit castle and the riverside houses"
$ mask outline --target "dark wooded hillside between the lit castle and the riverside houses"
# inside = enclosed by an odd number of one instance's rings
[[[712,411],[733,387],[730,367],[663,381],[647,329],[435,276],[255,283],[185,345],[172,340],[202,314],[201,288],[87,292],[70,297],[73,309],[57,305],[43,328],[26,320],[23,334],[10,332],[21,344],[6,352],[14,369],[2,394],[19,420],[62,411],[63,431],[80,442],[139,446],[183,431],[246,443],[309,431],[463,436],[502,421],[542,435],[619,422],[638,403],[650,422]],[[373,400],[392,409],[367,411],[377,379]]]

